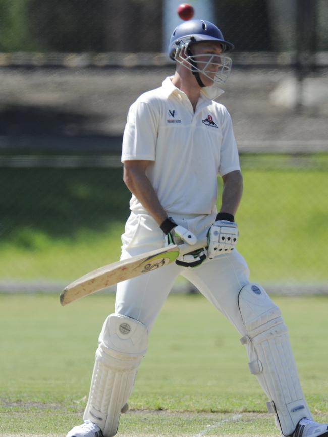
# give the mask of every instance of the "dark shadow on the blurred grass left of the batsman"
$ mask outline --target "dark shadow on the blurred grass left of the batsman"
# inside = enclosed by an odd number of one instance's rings
[[[15,239],[22,229],[49,237],[81,229],[103,231],[129,215],[130,192],[122,169],[2,169],[0,236]]]

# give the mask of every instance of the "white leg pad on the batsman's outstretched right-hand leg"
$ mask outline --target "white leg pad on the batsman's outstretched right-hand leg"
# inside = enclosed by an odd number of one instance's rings
[[[303,417],[311,418],[299,383],[288,330],[279,308],[263,287],[247,284],[239,293],[238,304],[246,330],[240,340],[246,346],[250,372],[271,400],[276,424],[283,435],[291,435]]]

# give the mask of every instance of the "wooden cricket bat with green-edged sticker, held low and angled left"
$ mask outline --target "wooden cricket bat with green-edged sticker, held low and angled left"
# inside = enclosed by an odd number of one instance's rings
[[[67,305],[110,285],[165,267],[173,263],[179,255],[206,246],[207,240],[197,241],[193,245],[174,244],[97,268],[66,286],[60,296],[61,304]]]

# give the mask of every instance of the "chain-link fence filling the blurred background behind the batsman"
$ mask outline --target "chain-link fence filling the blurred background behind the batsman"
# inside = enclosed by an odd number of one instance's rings
[[[179,3],[0,0],[1,290],[59,290],[119,258],[126,114],[174,73],[162,52]],[[326,291],[328,4],[190,3],[236,47],[220,102],[241,153],[251,277]]]

